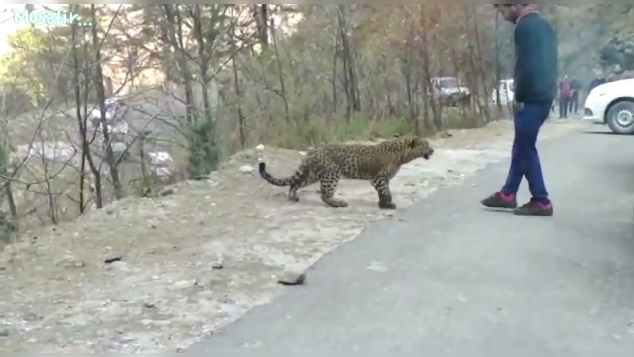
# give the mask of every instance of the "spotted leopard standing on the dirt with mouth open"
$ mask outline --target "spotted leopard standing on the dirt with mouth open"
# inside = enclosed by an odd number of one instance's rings
[[[333,208],[348,206],[346,201],[334,198],[340,179],[366,180],[378,193],[378,207],[394,210],[390,180],[405,163],[418,158],[429,160],[433,154],[434,149],[424,138],[402,136],[380,144],[326,144],[310,149],[288,177],[274,177],[264,161],[258,163],[258,172],[269,184],[289,187],[288,201],[292,202],[299,202],[299,189],[320,182],[321,201]]]

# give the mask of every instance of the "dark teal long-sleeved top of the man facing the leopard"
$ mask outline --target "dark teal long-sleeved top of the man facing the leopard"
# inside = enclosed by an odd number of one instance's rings
[[[557,97],[557,36],[545,18],[531,12],[515,25],[515,100]]]

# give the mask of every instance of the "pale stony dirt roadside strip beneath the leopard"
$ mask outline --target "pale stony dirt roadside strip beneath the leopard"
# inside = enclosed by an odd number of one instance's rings
[[[583,127],[550,122],[541,140]],[[432,140],[434,158],[413,161],[392,181],[399,209],[506,158],[512,124],[451,134]],[[378,210],[369,184],[354,181],[338,190],[346,209],[323,205],[316,186],[289,203],[285,189],[253,170],[262,154],[280,176],[301,158],[270,147],[240,152],[209,180],[124,199],[8,246],[0,255],[0,353],[175,351],[273,299],[285,268],[306,269],[393,214]]]

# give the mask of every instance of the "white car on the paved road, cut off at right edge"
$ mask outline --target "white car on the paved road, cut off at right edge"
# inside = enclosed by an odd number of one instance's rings
[[[590,91],[583,119],[607,124],[617,134],[634,135],[634,79],[604,83]]]

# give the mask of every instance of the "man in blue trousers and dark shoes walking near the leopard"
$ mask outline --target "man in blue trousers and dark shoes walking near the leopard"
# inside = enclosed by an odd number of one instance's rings
[[[481,203],[489,208],[513,209],[515,215],[552,216],[536,144],[557,95],[557,38],[550,24],[529,4],[495,7],[505,20],[515,24],[515,138],[506,184]],[[515,196],[522,177],[526,177],[533,197],[517,208]]]

